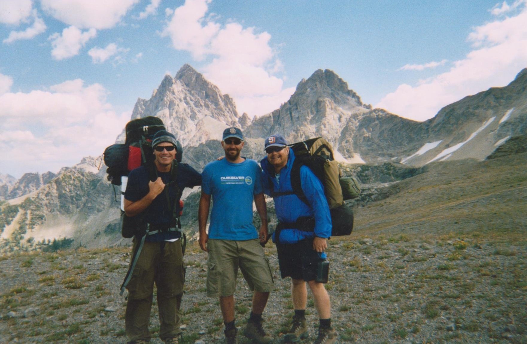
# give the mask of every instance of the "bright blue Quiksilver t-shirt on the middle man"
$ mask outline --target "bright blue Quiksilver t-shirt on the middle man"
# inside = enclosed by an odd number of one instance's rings
[[[227,159],[213,161],[203,169],[201,190],[212,195],[209,238],[251,240],[258,238],[252,224],[254,195],[262,193],[261,169],[255,160],[240,164]]]

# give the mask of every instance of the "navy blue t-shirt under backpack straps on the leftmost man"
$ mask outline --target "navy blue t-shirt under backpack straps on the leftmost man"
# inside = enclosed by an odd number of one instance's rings
[[[158,177],[161,177],[163,183],[167,184],[170,181],[170,172],[158,171]],[[128,176],[128,184],[126,184],[124,198],[131,202],[137,202],[146,196],[149,192],[149,181],[150,179],[146,167],[141,166],[132,170]],[[179,185],[181,190],[185,187],[192,188],[194,186],[201,185],[201,174],[190,167],[188,164],[180,163],[178,167],[178,176],[175,180],[175,183]],[[174,204],[176,196],[175,193],[175,188],[169,187],[171,205],[167,204],[167,196],[165,196],[165,191],[155,197],[152,201],[152,204],[150,204],[150,206],[145,209],[144,220],[154,225],[169,225],[172,221],[173,209],[171,206]],[[176,206],[178,208],[177,211],[179,212],[179,204]],[[180,236],[181,234],[179,232],[158,233],[154,235],[148,235],[146,241],[158,242],[179,238]]]

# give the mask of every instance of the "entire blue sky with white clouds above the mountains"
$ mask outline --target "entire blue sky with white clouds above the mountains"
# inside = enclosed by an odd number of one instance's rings
[[[331,69],[426,120],[527,67],[525,0],[2,0],[0,173],[98,156],[137,98],[189,63],[250,117]]]

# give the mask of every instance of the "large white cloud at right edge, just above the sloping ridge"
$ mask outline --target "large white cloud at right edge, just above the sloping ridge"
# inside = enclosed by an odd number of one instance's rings
[[[399,85],[375,107],[399,116],[426,120],[466,95],[503,87],[527,66],[527,9],[513,17],[475,27],[467,38],[474,50],[445,73],[415,87]]]

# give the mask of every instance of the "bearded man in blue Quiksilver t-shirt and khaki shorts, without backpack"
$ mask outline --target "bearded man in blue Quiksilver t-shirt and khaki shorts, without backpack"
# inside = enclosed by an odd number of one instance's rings
[[[227,343],[237,342],[234,292],[239,268],[254,291],[251,315],[243,334],[252,342],[267,344],[271,337],[266,335],[261,324],[273,285],[269,262],[262,249],[268,240],[267,208],[258,163],[240,156],[244,144],[240,129],[225,129],[221,141],[225,159],[213,161],[203,169],[199,244],[209,253],[207,296],[220,298]],[[252,224],[253,200],[261,219],[259,232]]]

